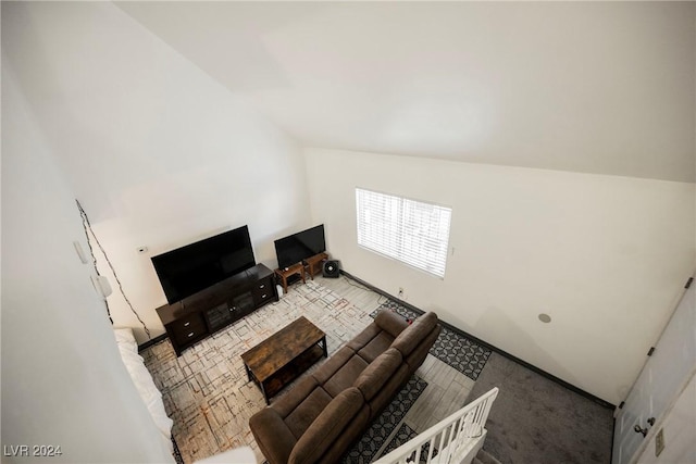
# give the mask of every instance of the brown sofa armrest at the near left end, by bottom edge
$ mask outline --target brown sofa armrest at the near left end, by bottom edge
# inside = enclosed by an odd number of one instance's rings
[[[285,464],[297,439],[272,407],[264,407],[249,418],[249,428],[269,464]]]

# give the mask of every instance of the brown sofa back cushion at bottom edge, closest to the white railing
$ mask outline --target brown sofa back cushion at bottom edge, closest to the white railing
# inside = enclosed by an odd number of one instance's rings
[[[363,406],[364,398],[360,390],[350,387],[341,391],[297,440],[288,463],[319,461]]]

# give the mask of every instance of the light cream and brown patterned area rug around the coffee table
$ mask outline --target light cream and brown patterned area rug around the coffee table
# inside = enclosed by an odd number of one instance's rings
[[[251,447],[257,461],[263,462],[249,430],[249,417],[265,402],[260,389],[248,381],[240,355],[300,315],[326,333],[330,356],[372,322],[368,312],[308,281],[179,358],[169,340],[140,353],[174,421],[172,432],[185,464],[243,446]]]

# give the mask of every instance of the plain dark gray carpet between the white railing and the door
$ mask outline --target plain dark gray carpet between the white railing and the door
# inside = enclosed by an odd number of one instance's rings
[[[502,464],[611,462],[612,411],[493,353],[468,402],[493,387],[484,449]]]

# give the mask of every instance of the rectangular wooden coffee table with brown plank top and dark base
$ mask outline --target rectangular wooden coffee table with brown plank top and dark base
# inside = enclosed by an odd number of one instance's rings
[[[326,352],[326,334],[304,316],[241,355],[249,380],[261,388],[265,403]]]

